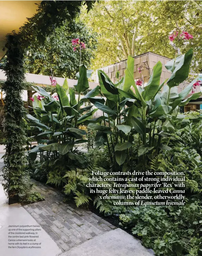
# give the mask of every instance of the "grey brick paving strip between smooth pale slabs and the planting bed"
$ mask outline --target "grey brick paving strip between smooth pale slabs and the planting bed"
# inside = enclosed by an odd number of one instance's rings
[[[32,180],[44,201],[24,206],[27,212],[53,238],[62,251],[99,236],[116,227],[96,214],[63,202],[63,195],[40,182]]]

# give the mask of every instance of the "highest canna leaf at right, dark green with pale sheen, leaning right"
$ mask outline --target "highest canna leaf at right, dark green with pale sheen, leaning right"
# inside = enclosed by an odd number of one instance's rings
[[[174,87],[182,83],[189,76],[189,66],[193,56],[193,49],[189,49],[181,58],[178,65],[171,74],[169,80],[167,80],[167,85],[169,87]]]

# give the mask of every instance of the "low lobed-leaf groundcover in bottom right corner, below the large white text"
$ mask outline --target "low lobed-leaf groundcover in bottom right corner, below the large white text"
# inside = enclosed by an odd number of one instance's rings
[[[115,207],[114,214],[119,215],[120,225],[129,228],[158,256],[201,255],[202,206],[199,200],[177,207]]]

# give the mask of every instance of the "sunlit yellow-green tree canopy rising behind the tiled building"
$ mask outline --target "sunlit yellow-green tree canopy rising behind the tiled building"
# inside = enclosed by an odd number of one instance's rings
[[[99,33],[93,68],[99,68],[147,51],[173,58],[169,35],[178,28],[193,39],[179,44],[181,53],[192,47],[193,65],[202,68],[202,1],[99,1],[81,18]]]

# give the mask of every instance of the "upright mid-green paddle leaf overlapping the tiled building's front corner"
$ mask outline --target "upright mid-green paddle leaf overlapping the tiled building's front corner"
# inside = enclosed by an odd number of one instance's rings
[[[142,97],[145,101],[148,101],[155,97],[160,85],[161,72],[162,64],[160,61],[158,61],[153,68],[153,73],[149,78],[147,85],[145,86],[145,91],[142,92]]]

